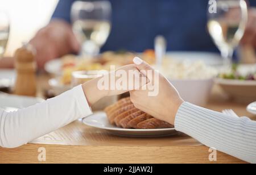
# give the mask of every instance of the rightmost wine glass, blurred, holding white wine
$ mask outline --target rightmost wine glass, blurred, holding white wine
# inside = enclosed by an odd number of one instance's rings
[[[245,0],[210,0],[208,30],[221,51],[224,65],[232,64],[234,49],[245,32],[248,11]]]

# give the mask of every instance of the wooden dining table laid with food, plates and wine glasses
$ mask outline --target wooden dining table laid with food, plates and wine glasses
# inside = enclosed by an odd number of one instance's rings
[[[134,64],[134,57],[140,57],[158,70],[185,102],[226,116],[256,120],[256,54],[248,55],[249,48],[239,46],[247,22],[247,6],[245,1],[217,2],[221,12],[208,14],[207,29],[220,53],[169,51],[167,45],[171,41],[160,34],[155,36],[154,48],[142,52],[101,51],[112,28],[112,6],[108,1],[77,1],[71,7],[71,20],[72,31],[81,43],[80,53],[64,54],[39,68],[36,58],[41,52],[32,43],[24,43],[12,56],[13,68],[0,68],[0,109],[15,113],[45,103],[115,69]],[[237,9],[241,18],[229,18]],[[5,19],[0,21],[1,60],[10,21],[1,11],[0,19]],[[240,61],[232,59],[237,49]],[[90,109],[91,115],[20,147],[0,147],[0,164],[248,163],[209,148],[176,131],[174,125],[137,109],[129,92],[104,97]],[[17,135],[22,137],[22,133]]]

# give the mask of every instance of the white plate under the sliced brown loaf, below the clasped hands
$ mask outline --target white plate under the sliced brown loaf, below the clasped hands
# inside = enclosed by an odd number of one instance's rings
[[[111,134],[118,136],[128,137],[159,137],[176,135],[178,132],[174,128],[166,129],[154,129],[154,130],[135,130],[135,129],[123,129],[113,126],[109,123],[105,113],[96,113],[90,115],[82,120],[84,124],[90,127],[100,128],[106,130]]]

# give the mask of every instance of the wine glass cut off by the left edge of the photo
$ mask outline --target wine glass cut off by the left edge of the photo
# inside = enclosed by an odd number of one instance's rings
[[[9,38],[10,20],[4,11],[0,11],[0,59],[5,53],[7,41]]]

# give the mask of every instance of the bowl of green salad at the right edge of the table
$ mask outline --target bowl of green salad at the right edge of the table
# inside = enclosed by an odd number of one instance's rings
[[[255,64],[234,64],[232,68],[222,71],[215,81],[234,101],[240,103],[256,101]]]

